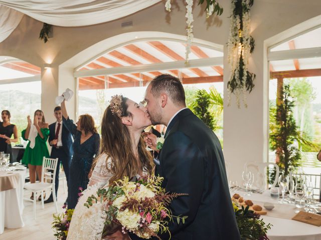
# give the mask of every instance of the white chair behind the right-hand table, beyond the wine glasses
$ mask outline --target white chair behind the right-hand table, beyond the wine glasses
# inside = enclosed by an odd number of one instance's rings
[[[266,175],[266,168],[270,165],[274,166],[276,169],[275,172],[275,179],[272,184],[272,187],[274,187],[277,184],[277,180],[279,178],[279,166],[276,163],[273,162],[246,162],[244,165],[245,170],[251,171],[256,176],[255,186],[257,188],[262,188],[264,186],[265,189],[267,189],[266,182],[267,182],[267,175]]]

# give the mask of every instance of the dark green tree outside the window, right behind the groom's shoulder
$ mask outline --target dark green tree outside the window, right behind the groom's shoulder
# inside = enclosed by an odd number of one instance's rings
[[[196,99],[192,104],[192,111],[197,115],[208,127],[216,129],[216,121],[213,113],[209,111],[211,105],[210,95],[205,90],[198,90]]]

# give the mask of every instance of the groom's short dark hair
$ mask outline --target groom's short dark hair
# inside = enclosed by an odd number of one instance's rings
[[[149,84],[151,85],[151,93],[154,96],[159,96],[165,92],[174,103],[185,105],[185,91],[179,78],[171,74],[162,74],[152,79]]]

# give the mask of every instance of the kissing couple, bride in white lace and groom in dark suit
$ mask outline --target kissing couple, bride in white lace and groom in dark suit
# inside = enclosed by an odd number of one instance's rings
[[[185,92],[177,77],[163,74],[146,88],[145,106],[113,96],[101,127],[101,150],[95,159],[88,188],[72,216],[67,239],[101,239],[102,209],[88,214],[84,202],[97,188],[123,176],[155,173],[164,177],[166,191],[186,193],[170,204],[173,215],[188,216],[185,224],[169,221],[172,239],[240,239],[230,198],[221,144],[185,104]],[[167,126],[159,165],[144,147],[141,132],[148,125]],[[145,141],[154,139],[148,134]],[[121,230],[105,239],[141,239]],[[169,233],[159,234],[169,239]]]

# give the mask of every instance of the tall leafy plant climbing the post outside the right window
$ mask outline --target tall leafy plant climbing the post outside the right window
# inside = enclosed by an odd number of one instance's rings
[[[282,90],[282,102],[276,106],[274,114],[275,125],[270,132],[270,144],[279,156],[277,162],[280,171],[287,175],[290,170],[294,170],[300,165],[301,154],[295,139],[298,138],[298,130],[293,118],[292,109],[294,101],[290,94],[289,85],[284,85]]]

